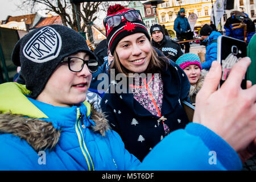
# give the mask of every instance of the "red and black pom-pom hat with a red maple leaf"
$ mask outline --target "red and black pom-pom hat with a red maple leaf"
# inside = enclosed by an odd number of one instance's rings
[[[130,10],[134,9],[125,9],[121,5],[109,6],[106,18],[108,18],[108,16],[122,14]],[[122,16],[121,23],[118,26],[110,27],[108,23],[104,23],[104,26],[106,28],[108,47],[112,55],[114,55],[115,47],[117,47],[119,41],[126,36],[141,32],[146,35],[148,40],[150,40],[150,35],[147,32],[146,25],[140,19],[129,22]]]

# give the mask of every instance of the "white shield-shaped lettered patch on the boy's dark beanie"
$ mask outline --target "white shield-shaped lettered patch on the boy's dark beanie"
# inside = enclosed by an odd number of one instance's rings
[[[60,34],[52,27],[45,27],[28,40],[23,54],[35,63],[44,63],[59,56],[61,45]]]

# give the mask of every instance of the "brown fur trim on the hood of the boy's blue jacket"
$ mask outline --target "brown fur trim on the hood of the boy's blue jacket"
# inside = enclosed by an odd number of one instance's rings
[[[91,125],[93,131],[105,136],[105,132],[110,129],[108,120],[104,113],[94,109],[93,104],[91,104],[90,119],[95,122],[94,126]],[[26,140],[35,151],[40,151],[55,147],[59,141],[61,129],[55,129],[52,122],[6,113],[0,114],[0,133],[20,137]]]

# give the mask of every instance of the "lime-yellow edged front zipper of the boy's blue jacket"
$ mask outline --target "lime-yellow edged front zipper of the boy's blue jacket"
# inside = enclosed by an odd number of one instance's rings
[[[89,169],[89,171],[94,171],[92,158],[90,158],[89,151],[88,151],[88,149],[85,145],[85,142],[84,142],[84,135],[82,134],[82,130],[81,130],[81,127],[80,127],[80,121],[81,121],[81,126],[82,126],[83,129],[85,129],[84,122],[82,121],[82,117],[83,117],[83,115],[82,115],[82,113],[80,114],[80,109],[77,108],[77,119],[76,119],[76,125],[75,125],[76,134],[77,134],[77,137],[79,139],[79,145],[80,145],[82,154],[84,155],[84,158],[86,160],[88,169]]]

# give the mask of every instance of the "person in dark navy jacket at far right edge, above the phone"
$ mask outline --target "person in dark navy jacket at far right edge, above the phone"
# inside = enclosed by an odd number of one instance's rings
[[[224,24],[225,35],[235,39],[245,40],[245,30],[243,27],[233,29],[234,27],[238,26],[235,23],[242,22],[246,24],[246,43],[249,44],[251,38],[255,34],[255,24],[250,18],[248,18],[244,13],[241,13],[240,11],[232,11],[230,13],[230,17],[226,20],[226,23]]]

